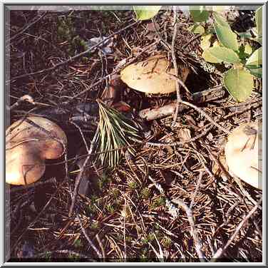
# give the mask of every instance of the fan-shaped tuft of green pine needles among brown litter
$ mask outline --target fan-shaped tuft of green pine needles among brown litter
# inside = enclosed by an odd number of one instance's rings
[[[96,151],[100,152],[98,160],[101,165],[113,170],[125,153],[135,155],[135,147],[142,142],[143,136],[140,126],[133,120],[107,107],[101,100],[97,102],[100,118],[96,138]]]

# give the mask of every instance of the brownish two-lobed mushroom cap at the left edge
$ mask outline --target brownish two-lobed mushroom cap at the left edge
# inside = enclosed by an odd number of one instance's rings
[[[36,182],[45,172],[45,160],[60,158],[66,145],[65,133],[51,120],[28,117],[16,121],[6,130],[6,182]]]

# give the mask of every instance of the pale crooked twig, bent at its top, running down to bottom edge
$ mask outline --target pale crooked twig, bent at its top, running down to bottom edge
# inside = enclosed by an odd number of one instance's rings
[[[180,207],[182,207],[183,210],[185,210],[188,221],[190,223],[190,227],[191,227],[191,232],[192,232],[192,238],[194,239],[195,242],[195,250],[197,252],[197,255],[200,259],[200,262],[205,262],[205,257],[203,256],[202,252],[201,252],[201,244],[200,244],[200,239],[198,237],[198,234],[195,230],[195,224],[194,221],[192,219],[192,210],[190,210],[190,207],[188,207],[185,202],[183,202],[180,199],[172,199],[172,202],[174,202],[175,204],[179,205]]]

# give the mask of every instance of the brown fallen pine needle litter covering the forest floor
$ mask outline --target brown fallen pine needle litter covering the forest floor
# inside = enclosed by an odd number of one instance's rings
[[[11,11],[11,36],[38,16],[41,15],[36,11]],[[190,56],[190,51],[200,54],[200,41],[195,39],[181,49],[194,36],[187,31],[190,21],[182,14],[178,19],[177,58],[188,62],[197,71],[187,80],[187,88],[201,91],[217,86],[220,77],[202,71],[197,60]],[[68,29],[68,33],[61,36],[60,20],[65,21]],[[171,43],[172,10],[161,12],[155,22],[162,38]],[[132,11],[48,11],[29,29],[11,39],[10,78],[53,67],[84,50],[80,39],[87,40],[100,34],[108,36],[131,23]],[[8,213],[11,260],[19,256],[18,252],[28,241],[34,247],[33,257],[39,261],[200,262],[198,247],[204,257],[202,260],[210,261],[218,249],[225,247],[240,222],[255,207],[252,217],[243,222],[229,247],[216,260],[262,261],[262,210],[256,207],[262,192],[244,184],[237,185],[232,177],[223,180],[212,172],[214,159],[222,153],[226,138],[217,127],[203,138],[180,146],[156,147],[144,143],[135,148],[135,156],[125,155],[113,171],[90,161],[87,168],[92,183],[90,192],[87,196],[78,195],[75,213],[68,216],[77,176],[77,173],[70,172],[76,170],[75,158],[79,148],[85,144],[77,128],[68,120],[57,118],[57,109],[64,108],[73,113],[76,104],[100,98],[109,82],[105,77],[113,73],[115,66],[125,58],[128,61],[141,60],[152,53],[166,51],[165,44],[158,38],[159,33],[154,32],[150,21],[138,24],[113,36],[113,53],[107,56],[95,51],[52,73],[27,76],[10,83],[10,105],[25,94],[32,96],[36,103],[22,103],[11,110],[11,122],[25,113],[38,113],[41,108],[55,109],[56,122],[68,135],[68,162],[65,165],[64,159],[49,162],[45,176],[35,187],[20,187],[19,190],[11,187]],[[78,43],[73,42],[76,36],[80,38],[76,38]],[[150,46],[152,43],[155,45]],[[92,87],[98,81],[100,83]],[[83,91],[86,93],[80,94]],[[183,91],[181,96],[185,98]],[[140,110],[164,105],[176,96],[150,97],[123,89],[116,98]],[[244,120],[262,118],[259,110],[262,105],[261,86],[257,85],[249,103],[253,100],[259,105],[243,103],[239,106],[225,96],[199,107],[229,131]],[[62,107],[66,101],[68,106]],[[187,128],[195,137],[209,123],[196,110],[189,108],[178,116],[175,126],[171,127],[170,116],[144,123],[144,131],[150,131],[152,142],[174,143],[182,138],[180,129]],[[96,125],[85,124],[81,130],[90,144]],[[51,180],[51,177],[56,177],[56,180]],[[170,205],[172,200],[183,202],[192,215],[187,215],[180,202],[179,205],[175,202]],[[194,226],[191,226],[191,220]]]

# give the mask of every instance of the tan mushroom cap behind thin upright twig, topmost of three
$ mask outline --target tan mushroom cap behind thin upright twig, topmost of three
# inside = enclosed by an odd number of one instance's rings
[[[121,80],[130,88],[153,94],[166,94],[176,91],[175,69],[169,68],[170,63],[165,56],[152,56],[146,61],[133,63],[120,73]],[[179,77],[184,83],[189,68],[178,65]]]

